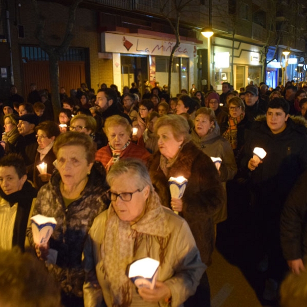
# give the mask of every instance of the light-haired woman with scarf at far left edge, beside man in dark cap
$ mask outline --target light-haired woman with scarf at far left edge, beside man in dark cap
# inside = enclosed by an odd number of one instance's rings
[[[18,116],[16,114],[8,114],[4,116],[4,134],[2,134],[2,141],[5,142],[5,152],[13,152],[15,144],[19,137],[17,129]]]

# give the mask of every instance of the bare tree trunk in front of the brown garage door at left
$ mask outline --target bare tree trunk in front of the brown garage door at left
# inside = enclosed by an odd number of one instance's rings
[[[54,120],[57,121],[61,109],[59,94],[59,58],[53,53],[49,54],[49,76],[51,83],[53,115]]]

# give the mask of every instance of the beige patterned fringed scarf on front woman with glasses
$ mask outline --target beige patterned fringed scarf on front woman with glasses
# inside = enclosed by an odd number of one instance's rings
[[[160,266],[164,264],[171,237],[159,196],[152,192],[146,203],[145,213],[133,225],[121,221],[113,206],[108,209],[105,236],[101,244],[101,270],[107,276],[113,296],[113,307],[128,307],[132,302],[133,282],[126,269],[135,259],[142,240],[145,240],[147,256],[155,240],[159,243]],[[158,259],[157,259],[158,260]]]

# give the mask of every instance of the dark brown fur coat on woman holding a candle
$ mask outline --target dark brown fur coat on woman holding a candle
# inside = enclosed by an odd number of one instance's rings
[[[187,186],[182,197],[183,210],[180,213],[188,222],[202,261],[210,264],[214,248],[213,214],[225,200],[225,190],[211,159],[198,149],[193,142],[181,148],[176,161],[166,177],[160,167],[160,151],[149,160],[148,168],[153,186],[159,194],[162,205],[170,206],[170,177],[184,176]]]

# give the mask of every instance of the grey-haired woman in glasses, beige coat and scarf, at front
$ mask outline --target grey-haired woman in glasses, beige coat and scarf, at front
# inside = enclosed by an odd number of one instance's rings
[[[84,246],[84,305],[182,305],[205,269],[188,224],[161,205],[140,160],[119,161],[107,182],[111,206],[96,217]],[[144,257],[160,262],[152,290],[137,290],[126,274]]]

